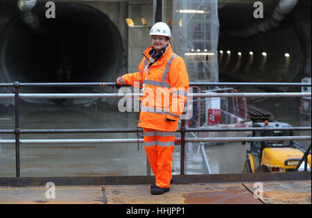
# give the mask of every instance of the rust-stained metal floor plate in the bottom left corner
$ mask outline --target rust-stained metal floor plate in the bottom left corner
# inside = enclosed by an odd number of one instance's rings
[[[50,197],[46,187],[0,187],[0,204],[103,204],[102,187],[56,186]]]

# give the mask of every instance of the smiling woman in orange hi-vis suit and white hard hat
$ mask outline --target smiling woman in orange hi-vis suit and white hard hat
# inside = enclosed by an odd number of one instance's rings
[[[171,183],[175,131],[187,101],[189,76],[183,58],[171,50],[167,24],[150,29],[152,46],[144,51],[139,72],[117,78],[118,85],[143,89],[139,127],[144,130],[144,148],[156,183],[151,194],[164,194]]]

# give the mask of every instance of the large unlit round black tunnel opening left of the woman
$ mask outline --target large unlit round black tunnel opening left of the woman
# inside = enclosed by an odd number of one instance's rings
[[[91,6],[55,5],[55,19],[45,17],[44,4],[39,3],[33,9],[40,18],[43,36],[29,28],[18,14],[6,26],[0,44],[4,83],[82,83],[114,79],[123,65],[123,45],[116,26]],[[87,88],[23,87],[22,91],[87,92]]]

